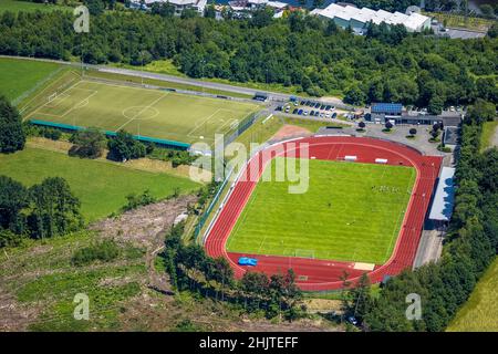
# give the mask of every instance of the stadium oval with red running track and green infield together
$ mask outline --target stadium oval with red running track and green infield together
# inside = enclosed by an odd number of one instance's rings
[[[309,145],[310,187],[288,195],[286,184],[261,176],[279,158],[299,157],[295,144]],[[345,278],[354,283],[365,272],[377,283],[412,267],[440,157],[353,136],[315,135],[269,148],[277,153],[260,150],[246,164],[207,228],[209,256],[226,258],[237,278],[292,269],[304,291],[341,289]],[[245,178],[253,168],[258,178]],[[239,266],[242,257],[257,266]]]

